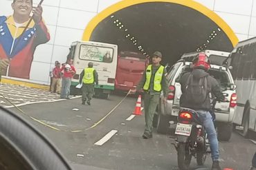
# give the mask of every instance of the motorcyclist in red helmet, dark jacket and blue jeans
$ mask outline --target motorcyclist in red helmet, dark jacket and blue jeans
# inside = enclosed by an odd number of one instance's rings
[[[217,134],[212,121],[212,116],[210,114],[210,97],[209,94],[212,93],[220,101],[225,101],[226,98],[221,93],[221,89],[216,79],[209,76],[208,70],[210,69],[210,60],[204,53],[198,54],[192,61],[192,72],[188,72],[181,76],[181,95],[180,105],[181,107],[187,107],[196,110],[199,113],[199,117],[203,122],[205,131],[208,134],[208,140],[210,142],[210,149],[212,152],[212,170],[221,170],[219,166],[219,143],[217,140]],[[185,90],[187,86],[188,77],[192,74],[193,78],[201,78],[206,76],[207,88],[206,88],[206,98],[203,103],[194,104],[192,100],[187,100],[185,96]]]

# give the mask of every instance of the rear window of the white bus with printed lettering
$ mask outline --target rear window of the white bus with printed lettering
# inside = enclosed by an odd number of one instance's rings
[[[111,63],[113,60],[113,48],[94,45],[81,45],[79,59]]]

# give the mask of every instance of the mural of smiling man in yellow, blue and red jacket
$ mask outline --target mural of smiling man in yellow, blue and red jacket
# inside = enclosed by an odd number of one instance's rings
[[[1,67],[2,75],[29,79],[30,67],[37,45],[50,40],[50,34],[42,19],[42,6],[33,8],[33,0],[13,0],[13,14],[0,16],[0,60],[8,61]],[[22,34],[30,13],[33,21]]]

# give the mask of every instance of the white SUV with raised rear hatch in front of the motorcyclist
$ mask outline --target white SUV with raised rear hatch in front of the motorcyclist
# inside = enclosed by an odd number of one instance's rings
[[[219,82],[222,89],[226,89],[223,91],[223,94],[230,100],[229,103],[217,102],[214,110],[219,140],[230,140],[232,134],[232,120],[234,118],[237,99],[234,81],[228,68],[228,56],[230,53],[214,50],[205,50],[204,52],[210,58],[210,76],[213,76]],[[179,78],[181,78],[185,72],[191,71],[191,61],[196,54],[199,54],[199,52],[183,54],[181,60],[172,65],[167,72],[166,78],[170,90],[167,103],[163,103],[163,95],[161,95],[161,100],[159,101],[156,111],[158,116],[154,117],[158,133],[166,134],[170,126],[170,121],[176,123],[181,97]]]

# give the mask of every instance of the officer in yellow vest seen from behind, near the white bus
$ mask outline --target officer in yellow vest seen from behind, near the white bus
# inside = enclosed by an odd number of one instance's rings
[[[91,98],[93,97],[93,92],[94,92],[94,84],[98,85],[98,73],[93,68],[92,62],[89,62],[88,67],[81,72],[80,83],[83,83],[82,84],[82,105],[85,105],[85,102],[88,105],[91,105]]]

